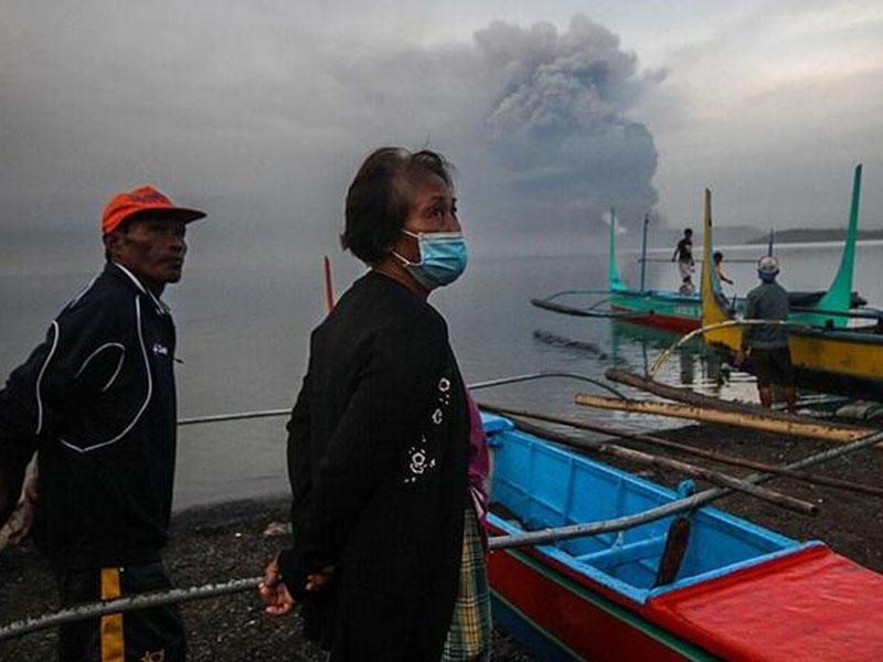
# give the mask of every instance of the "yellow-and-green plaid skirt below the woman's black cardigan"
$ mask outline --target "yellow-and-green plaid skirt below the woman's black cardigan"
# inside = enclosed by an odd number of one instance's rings
[[[481,533],[472,505],[464,516],[460,588],[442,662],[490,660],[490,589]]]

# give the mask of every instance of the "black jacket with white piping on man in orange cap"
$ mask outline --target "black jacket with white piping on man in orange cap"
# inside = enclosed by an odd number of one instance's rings
[[[159,556],[174,477],[173,360],[168,309],[108,264],[0,391],[0,468],[20,477],[39,451],[34,537],[57,567]]]

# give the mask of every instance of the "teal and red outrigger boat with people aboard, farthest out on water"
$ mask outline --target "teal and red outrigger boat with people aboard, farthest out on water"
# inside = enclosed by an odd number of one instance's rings
[[[866,303],[864,299],[852,291],[852,275],[855,263],[855,238],[859,221],[859,199],[861,192],[861,166],[855,168],[847,242],[843,247],[840,267],[831,287],[828,290],[821,291],[789,292],[792,310],[802,314],[804,319],[810,323],[828,323],[834,327],[845,327],[851,318],[861,318],[863,316],[862,312],[850,312],[851,309]],[[645,220],[645,234],[641,249],[641,286],[639,289],[632,289],[619,277],[616,256],[616,213],[614,210],[610,210],[607,267],[608,289],[566,290],[556,292],[544,299],[532,299],[531,302],[540,308],[564,314],[621,319],[629,323],[643,324],[673,331],[675,333],[689,333],[690,331],[699,329],[702,318],[700,293],[688,295],[680,293],[675,290],[645,289],[643,265],[647,263],[646,244],[647,233]],[[719,298],[725,300],[721,293],[721,285],[714,271],[712,271],[712,287],[714,291],[717,292]],[[607,295],[607,297],[583,308],[563,302],[563,299],[577,295]],[[727,305],[736,311],[742,309],[743,303],[744,299],[733,299],[727,302]]]

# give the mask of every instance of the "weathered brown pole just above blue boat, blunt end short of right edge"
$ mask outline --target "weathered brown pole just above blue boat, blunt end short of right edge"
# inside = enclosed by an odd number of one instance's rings
[[[638,462],[640,465],[649,465],[651,467],[657,467],[660,469],[674,469],[675,471],[680,471],[685,476],[692,476],[693,478],[701,478],[719,487],[730,488],[731,490],[737,490],[740,492],[744,492],[745,494],[751,494],[752,496],[755,496],[757,499],[763,499],[764,501],[767,501],[780,508],[786,508],[796,513],[800,513],[801,515],[815,515],[816,513],[818,513],[819,510],[815,503],[809,503],[808,501],[795,499],[794,496],[788,496],[787,494],[775,492],[768,488],[754,485],[738,478],[733,478],[732,476],[727,476],[719,471],[712,471],[711,469],[696,467],[695,465],[688,465],[687,462],[681,462],[679,460],[672,460],[669,458],[652,456],[646,452],[641,452],[639,450],[621,448],[619,446],[614,446],[610,444],[587,442],[585,440],[576,439],[568,435],[562,435],[561,433],[556,433],[549,428],[540,427],[538,425],[533,425],[520,419],[515,419],[515,426],[520,430],[524,430],[525,433],[529,433],[531,435],[535,435],[544,439],[550,439],[552,441],[556,441],[558,444],[563,444],[572,448],[578,448],[581,450],[587,450],[589,452],[599,452],[604,455],[609,455],[616,458],[620,458],[623,460],[630,460],[632,462]]]

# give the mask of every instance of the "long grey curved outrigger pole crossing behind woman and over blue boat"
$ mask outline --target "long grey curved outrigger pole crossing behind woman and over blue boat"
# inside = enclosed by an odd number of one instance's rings
[[[863,448],[869,448],[879,444],[881,440],[883,440],[883,431],[874,433],[872,435],[862,437],[861,439],[857,439],[851,444],[847,444],[845,446],[840,446],[838,448],[832,448],[816,455],[811,455],[802,460],[781,465],[780,467],[783,469],[804,469],[806,467],[819,465]],[[776,478],[776,474],[752,473],[743,480],[749,483],[762,483],[773,478]],[[698,494],[693,494],[692,496],[677,499],[663,505],[646,510],[642,513],[635,515],[626,515],[623,517],[616,517],[614,520],[591,522],[587,524],[573,524],[571,526],[562,526],[558,528],[546,528],[543,531],[494,536],[490,538],[490,548],[504,549],[509,547],[540,545],[574,537],[584,537],[589,535],[598,535],[600,533],[623,531],[640,524],[655,522],[675,513],[694,510],[701,505],[704,505],[705,503],[714,501],[715,499],[730,494],[732,490],[726,488],[712,488],[710,490],[699,492]],[[62,609],[61,611],[49,613],[39,618],[28,618],[24,620],[14,621],[0,628],[0,641],[86,618],[131,611],[132,609],[141,609],[145,607],[157,607],[159,605],[169,605],[171,602],[185,602],[189,600],[199,600],[227,594],[242,592],[256,588],[260,583],[260,579],[262,577],[233,579],[223,584],[209,584],[205,586],[194,586],[191,588],[177,588],[164,592],[141,594],[138,596],[117,598],[115,600],[105,602],[92,602],[70,609]]]

